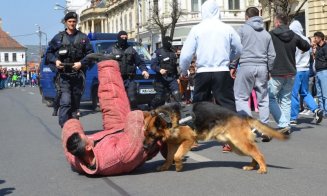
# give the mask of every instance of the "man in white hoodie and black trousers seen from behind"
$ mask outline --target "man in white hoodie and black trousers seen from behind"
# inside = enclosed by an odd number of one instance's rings
[[[187,76],[193,55],[196,54],[196,76],[193,102],[208,101],[211,93],[217,104],[236,111],[234,80],[228,64],[242,50],[240,37],[233,27],[220,20],[219,5],[207,0],[202,5],[202,21],[192,27],[180,55],[181,75]],[[230,151],[225,145],[223,152]]]

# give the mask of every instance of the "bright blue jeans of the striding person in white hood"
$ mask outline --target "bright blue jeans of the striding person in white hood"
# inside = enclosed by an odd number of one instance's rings
[[[318,106],[309,92],[309,70],[298,71],[295,76],[294,86],[292,91],[292,106],[291,106],[291,120],[296,120],[300,110],[300,96],[303,97],[303,101],[307,104],[309,109],[314,112]]]

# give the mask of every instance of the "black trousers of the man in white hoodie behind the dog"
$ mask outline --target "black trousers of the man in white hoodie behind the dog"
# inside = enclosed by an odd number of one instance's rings
[[[234,80],[229,71],[197,73],[194,78],[193,103],[212,101],[236,112]]]

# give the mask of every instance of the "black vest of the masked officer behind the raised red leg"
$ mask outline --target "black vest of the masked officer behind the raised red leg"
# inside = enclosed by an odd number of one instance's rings
[[[134,75],[136,67],[134,66],[134,49],[129,46],[126,49],[118,48],[117,45],[112,47],[111,55],[118,61],[121,75]]]

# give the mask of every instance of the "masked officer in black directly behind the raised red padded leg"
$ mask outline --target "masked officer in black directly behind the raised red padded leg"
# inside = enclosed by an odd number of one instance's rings
[[[117,35],[117,43],[112,47],[110,56],[118,61],[120,73],[124,80],[125,89],[129,98],[131,109],[137,108],[136,100],[136,66],[142,71],[145,79],[149,78],[148,69],[133,46],[127,43],[128,36],[125,31],[120,31]]]

